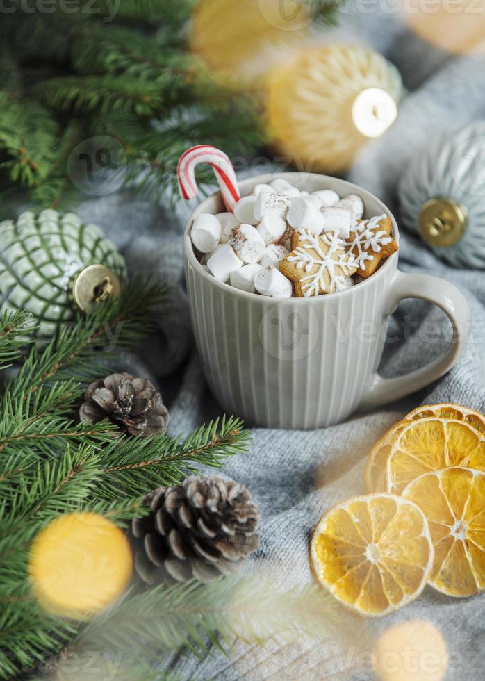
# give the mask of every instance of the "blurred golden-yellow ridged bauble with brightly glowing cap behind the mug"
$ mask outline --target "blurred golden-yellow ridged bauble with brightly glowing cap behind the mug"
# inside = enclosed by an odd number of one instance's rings
[[[393,124],[400,73],[365,47],[326,45],[274,69],[268,122],[282,154],[307,172],[342,172],[357,151]]]

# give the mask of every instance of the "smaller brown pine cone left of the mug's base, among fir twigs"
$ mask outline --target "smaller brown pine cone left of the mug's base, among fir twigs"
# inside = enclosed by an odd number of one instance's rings
[[[160,393],[146,378],[131,374],[110,374],[90,384],[79,409],[81,421],[108,418],[120,428],[120,435],[157,435],[168,422],[168,411]]]

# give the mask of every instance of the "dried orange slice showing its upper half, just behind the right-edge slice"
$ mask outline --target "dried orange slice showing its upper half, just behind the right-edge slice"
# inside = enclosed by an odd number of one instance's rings
[[[463,421],[411,421],[397,434],[388,455],[388,491],[400,494],[423,473],[451,466],[485,470],[485,436]]]

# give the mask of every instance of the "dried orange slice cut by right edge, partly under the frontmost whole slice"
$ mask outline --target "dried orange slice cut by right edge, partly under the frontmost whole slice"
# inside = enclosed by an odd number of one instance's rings
[[[485,589],[485,474],[444,468],[410,482],[404,498],[427,517],[434,544],[429,584],[447,596]]]

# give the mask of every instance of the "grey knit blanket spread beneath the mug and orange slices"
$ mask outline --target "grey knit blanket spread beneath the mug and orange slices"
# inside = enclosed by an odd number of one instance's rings
[[[348,10],[340,28],[324,40],[368,44],[384,53],[402,73],[409,90],[397,122],[386,136],[370,143],[348,173],[348,179],[374,192],[395,208],[400,174],[416,151],[443,130],[485,118],[485,60],[455,56],[413,35],[392,3],[375,3],[368,15]],[[483,17],[477,19],[483,22]],[[201,140],[204,142],[204,140]],[[195,429],[220,414],[202,376],[190,332],[183,284],[181,233],[190,206],[176,211],[142,202],[130,192],[87,200],[81,217],[99,224],[122,250],[131,272],[153,270],[169,287],[157,313],[158,334],[140,352],[119,357],[114,368],[151,378],[170,406],[170,432]],[[399,213],[396,210],[399,221]],[[452,371],[406,400],[354,416],[345,423],[313,432],[254,429],[250,452],[227,461],[223,472],[247,485],[261,509],[261,548],[247,561],[247,571],[276,579],[281,586],[311,582],[309,536],[332,504],[363,493],[365,457],[372,444],[407,411],[420,404],[456,402],[485,411],[485,274],[453,269],[416,237],[402,233],[400,268],[427,272],[458,286],[472,312],[468,347]],[[431,334],[423,331],[438,329]],[[436,307],[416,300],[402,302],[391,319],[400,341],[386,347],[381,372],[399,375],[422,366],[450,342],[449,322]],[[426,339],[426,340],[423,340]],[[141,359],[142,358],[142,359]],[[438,627],[450,661],[447,679],[483,678],[485,618],[482,597],[445,598],[427,588],[418,600],[376,621],[350,617],[348,639],[329,634],[315,643],[302,638],[281,646],[236,646],[230,657],[215,652],[203,662],[176,658],[176,678],[197,680],[372,679],[368,653],[372,641],[394,623],[429,620]],[[342,621],[348,617],[338,611]],[[353,637],[352,637],[353,632]],[[352,639],[352,640],[351,640]],[[416,681],[427,678],[417,674]]]

